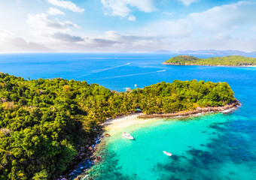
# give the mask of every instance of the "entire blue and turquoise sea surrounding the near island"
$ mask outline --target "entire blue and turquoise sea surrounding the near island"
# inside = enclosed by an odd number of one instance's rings
[[[238,110],[115,129],[113,136],[102,139],[97,152],[102,161],[88,175],[96,180],[256,179],[256,68],[162,65],[175,55],[0,54],[0,72],[26,80],[61,77],[87,81],[117,92],[173,80],[227,82],[242,103]],[[124,139],[124,130],[135,140]]]

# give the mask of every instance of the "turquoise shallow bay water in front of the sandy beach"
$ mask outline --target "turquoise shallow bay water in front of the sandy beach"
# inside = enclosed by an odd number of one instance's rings
[[[255,147],[246,145],[254,143],[253,134],[237,133],[242,123],[237,126],[238,119],[232,116],[161,119],[128,127],[136,140],[123,139],[121,132],[105,140],[107,145],[99,153],[103,161],[90,175],[93,179],[254,179]],[[172,157],[163,151],[171,151]]]

